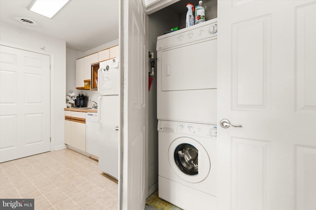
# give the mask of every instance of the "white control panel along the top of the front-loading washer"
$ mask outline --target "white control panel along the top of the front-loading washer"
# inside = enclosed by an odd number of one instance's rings
[[[199,137],[217,137],[217,126],[211,124],[158,120],[158,131]]]

